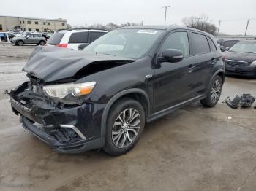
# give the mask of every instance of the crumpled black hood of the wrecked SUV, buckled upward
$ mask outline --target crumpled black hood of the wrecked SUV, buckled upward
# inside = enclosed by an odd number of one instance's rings
[[[118,58],[112,55],[86,53],[80,50],[69,50],[63,47],[36,47],[29,61],[23,68],[29,75],[53,82],[59,79],[73,77],[80,69],[85,69],[91,63],[104,64],[105,61],[132,60]],[[102,63],[101,63],[102,62]]]

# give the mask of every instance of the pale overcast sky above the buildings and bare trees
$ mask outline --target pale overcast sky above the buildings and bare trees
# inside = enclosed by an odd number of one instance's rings
[[[20,17],[65,18],[72,26],[94,23],[135,22],[144,25],[164,24],[164,9],[167,24],[182,26],[182,18],[209,16],[212,23],[226,34],[244,34],[250,18],[247,34],[256,35],[256,0],[12,0],[1,1],[0,15]]]

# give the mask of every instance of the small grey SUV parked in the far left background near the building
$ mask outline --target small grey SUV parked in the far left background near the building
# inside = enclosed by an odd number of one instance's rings
[[[37,44],[44,46],[46,41],[42,34],[26,34],[12,38],[11,42],[12,44],[19,46],[23,46],[23,44]]]

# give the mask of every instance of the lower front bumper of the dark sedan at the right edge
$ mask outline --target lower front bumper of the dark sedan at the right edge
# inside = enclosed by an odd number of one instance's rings
[[[230,67],[226,66],[225,71],[227,75],[237,75],[244,77],[256,77],[256,67]]]

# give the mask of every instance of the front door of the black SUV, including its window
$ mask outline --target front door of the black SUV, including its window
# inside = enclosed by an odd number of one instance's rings
[[[157,51],[157,57],[166,49],[181,50],[184,59],[177,63],[157,63],[154,69],[154,112],[180,104],[187,98],[187,77],[194,67],[191,43],[186,30],[173,31],[165,37]],[[159,61],[158,61],[159,62]]]

